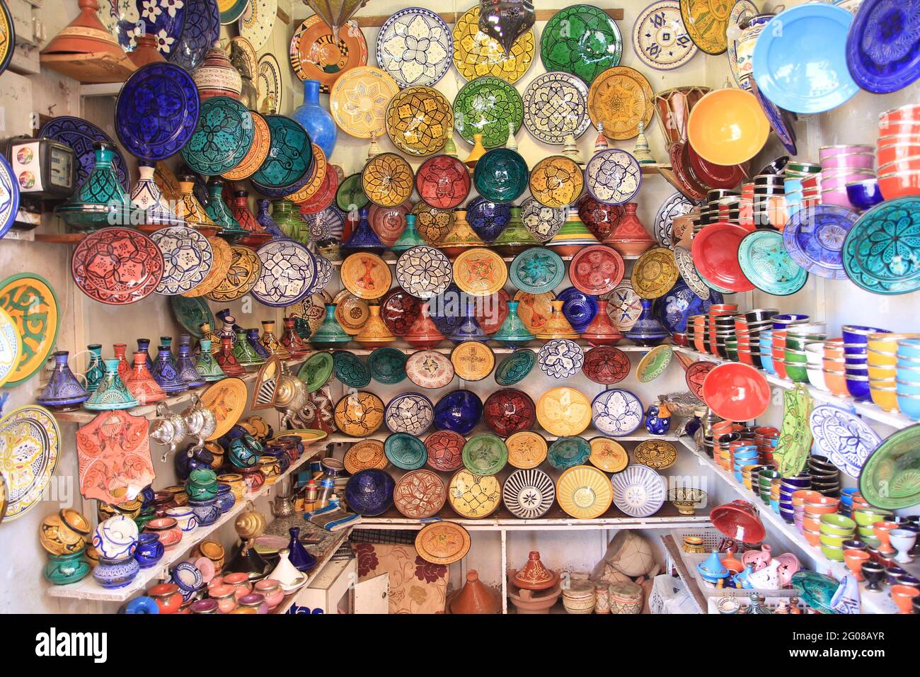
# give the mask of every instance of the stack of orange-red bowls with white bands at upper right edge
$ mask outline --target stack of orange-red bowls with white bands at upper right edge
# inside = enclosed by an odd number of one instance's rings
[[[880,114],[876,154],[886,200],[920,195],[920,103]]]

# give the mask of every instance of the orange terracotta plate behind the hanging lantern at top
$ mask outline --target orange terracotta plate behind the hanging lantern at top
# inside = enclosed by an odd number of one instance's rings
[[[293,31],[288,56],[294,75],[319,80],[320,91],[328,93],[345,71],[367,65],[367,41],[354,21],[339,29],[336,41],[326,22],[314,14]]]

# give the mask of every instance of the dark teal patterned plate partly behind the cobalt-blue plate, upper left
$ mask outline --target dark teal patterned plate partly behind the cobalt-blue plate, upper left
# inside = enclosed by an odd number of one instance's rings
[[[204,99],[195,131],[182,147],[182,159],[199,174],[223,174],[246,157],[255,129],[252,113],[236,99]]]

